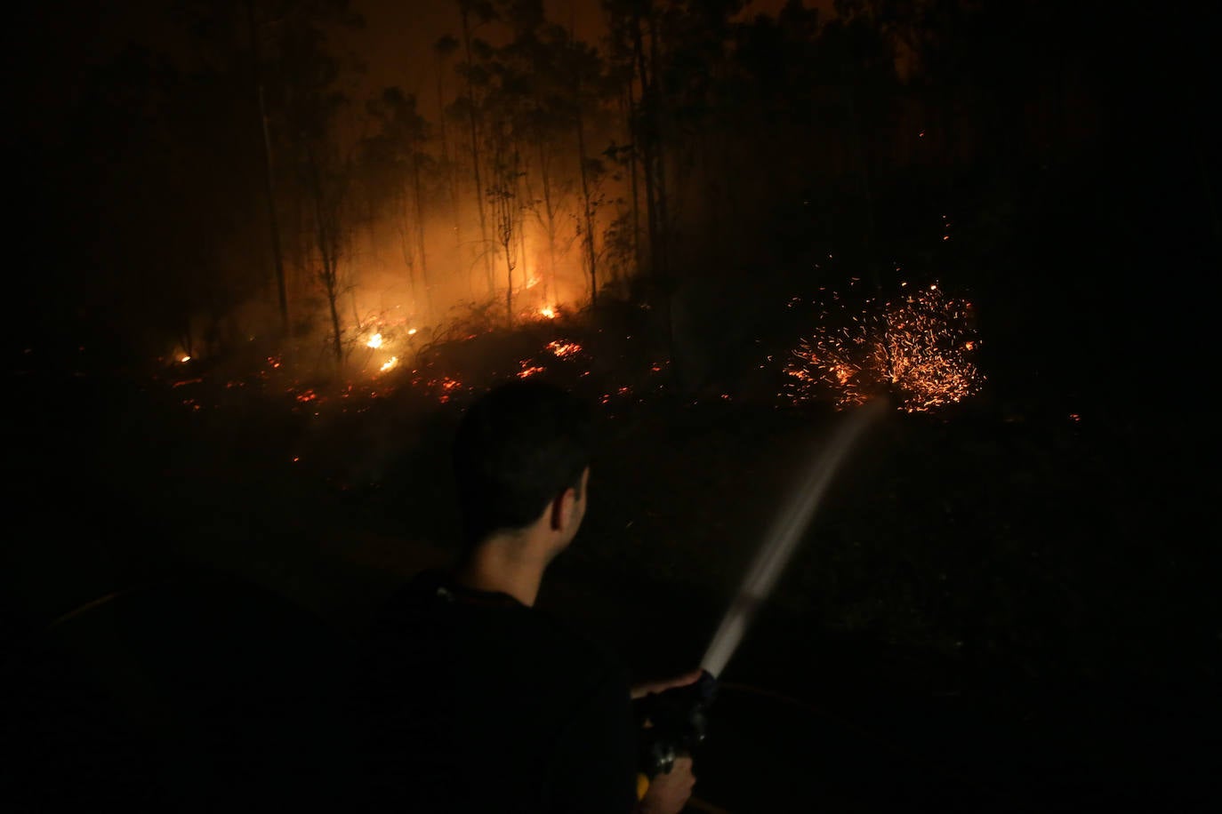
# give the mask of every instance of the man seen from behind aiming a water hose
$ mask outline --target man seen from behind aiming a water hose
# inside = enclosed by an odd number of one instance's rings
[[[453,445],[463,547],[395,594],[368,675],[374,808],[677,814],[689,758],[638,799],[639,731],[618,661],[535,608],[589,500],[587,405],[538,381],[480,398]]]

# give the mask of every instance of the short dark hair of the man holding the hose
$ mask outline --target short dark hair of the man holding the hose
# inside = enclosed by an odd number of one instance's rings
[[[529,526],[569,487],[580,497],[591,447],[589,405],[558,387],[514,381],[477,399],[453,447],[464,544]]]

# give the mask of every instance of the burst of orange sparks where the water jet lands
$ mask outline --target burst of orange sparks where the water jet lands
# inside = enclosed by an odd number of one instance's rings
[[[969,359],[980,345],[971,304],[936,284],[881,306],[866,300],[853,312],[832,294],[835,310],[820,314],[813,337],[802,339],[786,373],[796,402],[830,392],[837,406],[863,404],[890,389],[907,412],[962,402],[984,376]]]

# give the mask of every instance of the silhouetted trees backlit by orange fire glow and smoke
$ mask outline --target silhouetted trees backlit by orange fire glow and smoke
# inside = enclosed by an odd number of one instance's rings
[[[270,333],[342,359],[389,308],[375,290],[424,323],[464,300],[512,322],[600,294],[720,297],[827,250],[877,286],[924,262],[1004,287],[1024,240],[1064,227],[1036,212],[1050,200],[1123,232],[1165,211],[1132,204],[1150,184],[1216,250],[1207,24],[1185,11],[599,5],[587,43],[539,0],[456,0],[455,29],[413,55],[426,87],[369,98],[346,0],[27,10],[7,134],[23,310],[137,358]],[[975,236],[953,262],[947,217]]]

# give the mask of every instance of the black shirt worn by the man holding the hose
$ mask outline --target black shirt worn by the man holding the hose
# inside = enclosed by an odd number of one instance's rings
[[[628,814],[627,674],[508,594],[425,572],[368,647],[362,753],[375,810]]]

